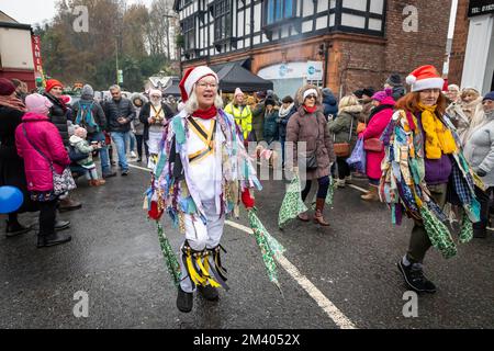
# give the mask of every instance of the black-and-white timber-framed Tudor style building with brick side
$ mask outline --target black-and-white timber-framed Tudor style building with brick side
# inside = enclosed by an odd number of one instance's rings
[[[280,97],[306,81],[346,94],[381,88],[390,73],[405,77],[419,65],[441,69],[450,7],[451,0],[175,2],[182,68],[239,61],[272,80]]]

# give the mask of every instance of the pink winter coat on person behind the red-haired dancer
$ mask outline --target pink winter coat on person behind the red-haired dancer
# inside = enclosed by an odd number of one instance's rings
[[[385,127],[391,121],[393,116],[393,98],[389,97],[381,101],[379,106],[377,106],[370,117],[370,122],[367,125],[366,129],[360,134],[363,139],[370,138],[380,138]],[[381,178],[381,161],[384,158],[384,150],[377,151],[368,151],[367,152],[367,177],[371,179],[380,179]]]

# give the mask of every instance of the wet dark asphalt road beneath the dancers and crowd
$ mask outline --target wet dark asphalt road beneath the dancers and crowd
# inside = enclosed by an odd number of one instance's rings
[[[363,203],[347,186],[326,211],[329,228],[294,222],[280,231],[282,181],[265,181],[257,206],[287,248],[283,296],[269,282],[254,237],[226,225],[231,291],[218,303],[195,297],[193,312],[181,314],[156,230],[141,210],[147,182],[147,172],[135,168],[98,189],[80,181],[75,196],[83,207],[61,215],[72,223],[67,245],[36,249],[34,231],[1,237],[0,328],[494,328],[493,236],[460,246],[450,260],[431,251],[426,273],[438,292],[419,295],[418,317],[405,318],[406,287],[395,262],[411,223],[393,227],[384,205]],[[247,225],[245,212],[234,222]],[[180,235],[169,225],[165,230],[178,248]],[[87,318],[72,314],[78,291],[89,296]]]

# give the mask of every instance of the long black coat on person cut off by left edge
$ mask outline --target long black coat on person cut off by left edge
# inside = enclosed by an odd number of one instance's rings
[[[15,128],[22,123],[23,112],[0,106],[0,186],[15,186],[22,191],[24,203],[16,211],[37,211],[37,203],[31,201],[25,180],[24,161],[15,147]]]

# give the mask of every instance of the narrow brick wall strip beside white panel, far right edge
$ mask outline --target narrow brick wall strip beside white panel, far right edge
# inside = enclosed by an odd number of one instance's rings
[[[469,1],[459,0],[457,20],[454,24],[453,43],[451,55],[449,58],[449,75],[450,83],[461,84],[461,76],[463,72],[464,54],[467,50],[467,39],[469,37]]]

